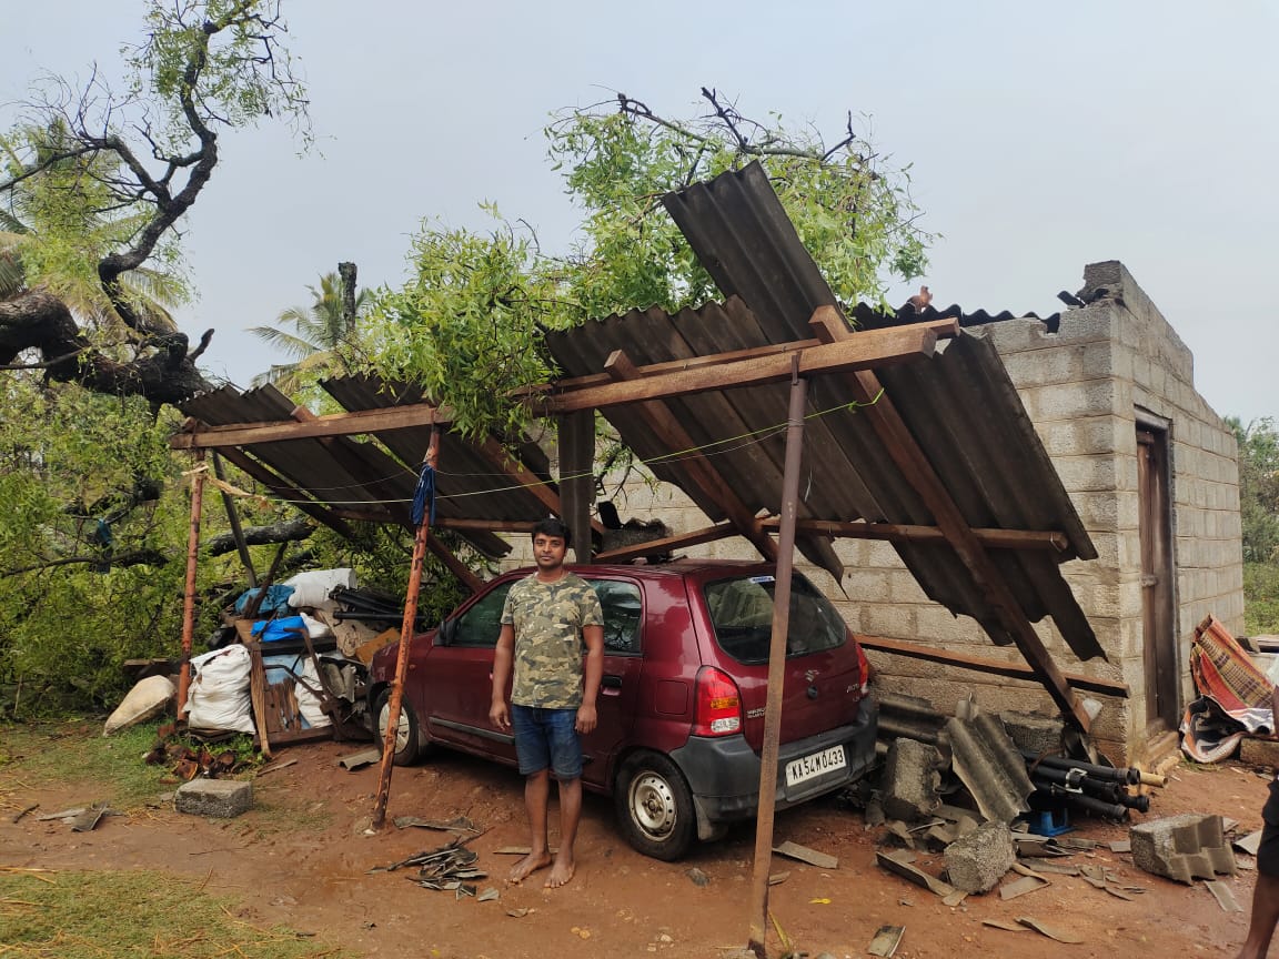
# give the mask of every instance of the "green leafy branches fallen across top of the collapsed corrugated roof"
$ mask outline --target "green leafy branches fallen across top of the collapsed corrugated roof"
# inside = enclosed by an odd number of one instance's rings
[[[625,97],[613,105],[620,109],[554,119],[549,155],[583,214],[581,239],[564,256],[505,221],[487,234],[423,222],[413,277],[384,292],[370,318],[379,372],[423,384],[468,435],[526,426],[530,409],[515,391],[551,376],[545,329],[650,306],[674,312],[718,295],[661,197],[756,160],[843,300],[879,300],[889,275],[922,271],[931,237],[914,225],[908,170],[851,129],[828,147],[815,132],[787,129],[780,118],[757,124],[706,96],[714,111],[689,121]]]

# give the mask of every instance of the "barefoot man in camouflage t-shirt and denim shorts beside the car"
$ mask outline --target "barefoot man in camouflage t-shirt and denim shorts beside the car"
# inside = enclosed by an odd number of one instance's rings
[[[531,852],[510,871],[519,882],[551,867],[547,889],[573,878],[573,841],[582,817],[582,743],[595,729],[595,699],[604,674],[604,615],[595,589],[564,569],[569,529],[544,519],[533,528],[537,572],[515,583],[501,611],[492,660],[489,719],[514,728],[515,754],[524,776]],[[510,708],[506,679],[514,665]],[[560,844],[551,861],[546,835],[550,777],[559,781]]]

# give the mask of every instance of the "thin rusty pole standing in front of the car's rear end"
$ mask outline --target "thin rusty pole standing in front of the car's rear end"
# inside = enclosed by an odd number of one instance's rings
[[[773,815],[778,789],[778,740],[781,737],[781,684],[785,679],[787,630],[790,627],[790,568],[794,560],[796,513],[803,409],[808,384],[799,378],[799,354],[790,366],[790,410],[787,417],[787,459],[781,477],[781,522],[778,532],[778,582],[773,593],[773,639],[769,646],[769,698],[764,712],[764,754],[760,760],[760,806],[755,823],[755,873],[751,882],[751,937],[747,949],[767,956],[769,868],[773,866]]]

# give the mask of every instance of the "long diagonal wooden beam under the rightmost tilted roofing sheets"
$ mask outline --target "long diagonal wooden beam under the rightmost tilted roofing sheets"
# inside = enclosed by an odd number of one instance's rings
[[[810,322],[817,339],[824,343],[847,341],[866,335],[851,332],[843,316],[834,307],[819,307]],[[853,390],[853,398],[861,404],[857,409],[858,416],[867,418],[889,456],[920,494],[938,527],[945,533],[950,546],[968,569],[973,583],[981,589],[1000,625],[1008,630],[1022,656],[1040,676],[1067,721],[1087,733],[1091,720],[1083,703],[1071,689],[1051,655],[1044,648],[1044,643],[1026,618],[1017,597],[1013,596],[981,541],[969,528],[968,520],[964,519],[945,483],[941,482],[929,458],[920,449],[893,402],[884,394],[879,377],[871,370],[856,370],[848,373],[848,384]]]

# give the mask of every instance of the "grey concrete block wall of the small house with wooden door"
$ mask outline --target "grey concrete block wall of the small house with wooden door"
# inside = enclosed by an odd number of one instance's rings
[[[1004,359],[1045,450],[1097,549],[1099,559],[1063,568],[1106,653],[1079,662],[1050,620],[1036,624],[1045,647],[1065,671],[1117,679],[1131,698],[1090,694],[1101,705],[1092,735],[1115,762],[1141,758],[1146,742],[1141,543],[1137,494],[1138,410],[1168,422],[1175,630],[1182,702],[1193,698],[1186,653],[1196,624],[1216,615],[1232,632],[1243,628],[1243,564],[1236,444],[1230,430],[1195,391],[1193,358],[1122,263],[1085,270],[1082,295],[1106,295],[1067,309],[1058,332],[1039,320],[1009,320],[969,329],[991,339]],[[671,533],[707,526],[678,490],[629,483],[618,496],[623,519],[660,518]],[[861,633],[906,639],[987,659],[1021,662],[1016,647],[995,647],[977,623],[930,601],[886,542],[840,540],[843,582],[797,565],[840,607]],[[753,557],[741,538],[684,551],[689,556]],[[527,563],[517,543],[514,563]],[[989,711],[1056,715],[1042,687],[940,664],[870,653],[881,682],[921,696],[943,712],[975,698]]]

